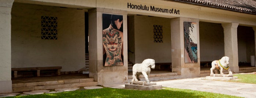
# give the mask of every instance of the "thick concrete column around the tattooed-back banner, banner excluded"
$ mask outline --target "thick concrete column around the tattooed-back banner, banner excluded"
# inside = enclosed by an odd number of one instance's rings
[[[123,15],[123,66],[103,65],[102,14]],[[95,8],[89,14],[89,77],[99,85],[123,84],[128,82],[127,59],[127,12],[121,10]]]

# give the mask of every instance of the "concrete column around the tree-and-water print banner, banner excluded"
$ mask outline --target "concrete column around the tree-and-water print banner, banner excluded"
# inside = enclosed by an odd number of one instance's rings
[[[197,23],[197,63],[185,63],[184,27],[183,22]],[[172,72],[177,72],[182,78],[200,76],[200,49],[199,49],[199,19],[173,18],[171,19],[171,61]]]

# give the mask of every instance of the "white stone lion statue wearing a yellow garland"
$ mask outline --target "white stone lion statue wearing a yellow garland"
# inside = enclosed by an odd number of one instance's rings
[[[232,75],[233,73],[231,72],[228,65],[229,65],[229,57],[227,57],[227,56],[222,57],[220,60],[212,61],[212,68],[211,68],[210,76],[214,76],[215,69],[218,71],[218,73],[220,73],[220,75],[223,75],[223,69],[228,70],[229,75]],[[220,69],[220,71],[219,71],[219,69]]]

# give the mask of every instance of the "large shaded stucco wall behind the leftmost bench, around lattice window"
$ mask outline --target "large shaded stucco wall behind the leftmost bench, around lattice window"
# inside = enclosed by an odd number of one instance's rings
[[[12,68],[85,66],[84,10],[14,3],[11,14]],[[41,16],[57,17],[57,40],[41,39]]]

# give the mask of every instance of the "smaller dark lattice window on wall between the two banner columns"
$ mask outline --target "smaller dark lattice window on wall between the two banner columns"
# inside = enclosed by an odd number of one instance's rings
[[[154,42],[163,42],[163,26],[154,25]]]

